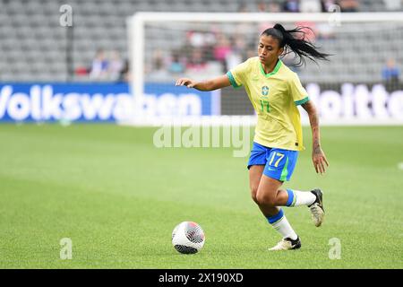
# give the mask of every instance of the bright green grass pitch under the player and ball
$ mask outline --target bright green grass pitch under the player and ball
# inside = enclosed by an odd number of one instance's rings
[[[321,228],[284,208],[302,239],[269,252],[279,234],[249,195],[247,157],[230,148],[155,148],[155,128],[0,126],[1,268],[402,268],[403,127],[322,127],[330,161],[314,172],[311,133],[285,187],[322,187]],[[399,168],[400,166],[400,168]],[[196,255],[171,245],[179,222],[199,222]],[[60,258],[72,239],[73,258]],[[330,239],[341,258],[330,259]]]

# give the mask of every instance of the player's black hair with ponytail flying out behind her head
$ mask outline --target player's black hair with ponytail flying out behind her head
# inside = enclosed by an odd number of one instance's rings
[[[286,30],[284,27],[277,23],[273,28],[269,28],[262,32],[262,35],[271,36],[279,40],[279,48],[284,48],[283,56],[294,52],[295,58],[298,58],[296,66],[305,65],[305,57],[313,60],[316,59],[327,60],[330,54],[321,53],[318,48],[313,45],[309,40],[305,39],[305,29],[312,30],[309,27],[296,27],[293,30]]]

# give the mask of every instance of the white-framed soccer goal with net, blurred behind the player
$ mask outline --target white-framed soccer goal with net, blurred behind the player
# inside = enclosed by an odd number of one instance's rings
[[[128,19],[134,125],[167,120],[253,124],[243,88],[196,91],[176,87],[207,80],[257,56],[259,37],[276,22],[309,27],[306,37],[330,62],[293,66],[323,124],[403,122],[403,13],[136,13]],[[307,123],[305,113],[301,113]]]

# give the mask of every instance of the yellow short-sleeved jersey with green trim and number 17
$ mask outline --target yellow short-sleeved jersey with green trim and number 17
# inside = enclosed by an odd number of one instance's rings
[[[266,74],[259,57],[251,57],[227,73],[231,85],[244,86],[257,113],[253,141],[270,148],[304,150],[298,105],[309,100],[298,75],[279,59]]]

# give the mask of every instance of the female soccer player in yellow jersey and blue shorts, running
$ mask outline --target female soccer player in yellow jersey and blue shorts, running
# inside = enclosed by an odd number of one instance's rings
[[[255,128],[253,149],[248,162],[249,183],[253,201],[282,240],[270,250],[301,248],[283,210],[279,206],[309,206],[315,226],[324,217],[321,189],[299,191],[280,189],[289,180],[296,166],[299,151],[304,150],[300,115],[296,106],[302,105],[309,115],[313,133],[313,166],[317,173],[329,166],[321,148],[319,120],[312,100],[296,73],[279,59],[291,51],[304,64],[304,57],[326,60],[329,54],[321,53],[304,39],[303,27],[285,30],[280,24],[264,30],[260,37],[258,56],[246,60],[217,78],[196,82],[181,78],[176,85],[184,85],[199,91],[213,91],[232,85],[244,86],[255,109],[258,122]]]

